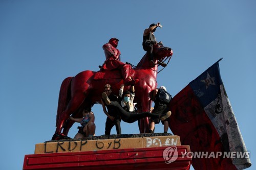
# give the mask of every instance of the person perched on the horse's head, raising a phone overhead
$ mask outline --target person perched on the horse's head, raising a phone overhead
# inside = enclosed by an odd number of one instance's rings
[[[153,54],[153,46],[157,43],[154,32],[156,31],[157,27],[160,27],[160,23],[157,24],[152,23],[148,29],[144,30],[143,33],[143,50],[150,55],[150,66],[154,67],[154,54]]]

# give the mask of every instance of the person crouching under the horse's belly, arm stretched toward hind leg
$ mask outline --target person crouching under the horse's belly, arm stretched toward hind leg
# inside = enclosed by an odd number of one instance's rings
[[[82,118],[73,118],[72,116],[69,117],[70,120],[80,123],[81,126],[77,127],[78,132],[75,135],[75,139],[84,138],[84,137],[91,137],[95,135],[96,126],[94,124],[94,114],[89,108],[85,108],[82,111]]]

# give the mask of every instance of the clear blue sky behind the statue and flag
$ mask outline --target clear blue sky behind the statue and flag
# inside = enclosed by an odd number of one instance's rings
[[[220,58],[221,77],[255,169],[256,2],[251,1],[0,1],[1,169],[21,169],[24,155],[55,132],[63,79],[98,70],[102,45],[118,38],[122,61],[144,55],[142,34],[172,47],[158,85],[175,96]],[[253,58],[254,57],[254,58]],[[96,135],[105,114],[95,105]],[[76,123],[69,136],[77,132]],[[139,133],[122,122],[122,133]],[[156,132],[162,132],[157,125]],[[171,132],[169,130],[169,132]],[[112,133],[115,132],[115,128]]]

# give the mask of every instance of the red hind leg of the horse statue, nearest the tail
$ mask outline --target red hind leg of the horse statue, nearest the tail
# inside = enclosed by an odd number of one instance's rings
[[[55,133],[61,132],[63,123],[69,118],[69,116],[73,112],[75,112],[79,108],[79,106],[82,104],[84,98],[85,98],[85,96],[82,92],[79,94],[74,94],[74,96],[72,96],[66,110],[63,111],[62,114],[58,117],[58,125],[57,125]]]

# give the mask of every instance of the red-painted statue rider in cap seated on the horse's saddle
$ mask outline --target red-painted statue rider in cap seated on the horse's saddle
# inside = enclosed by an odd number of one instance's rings
[[[121,74],[125,84],[134,84],[134,80],[130,77],[130,69],[132,67],[129,64],[125,64],[121,62],[121,53],[117,49],[119,40],[117,38],[111,38],[108,43],[102,46],[106,60],[102,65],[101,69],[113,70],[119,69],[121,70]]]

